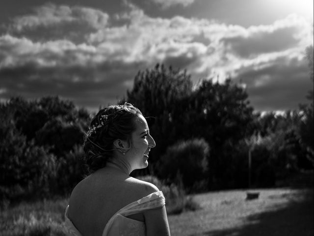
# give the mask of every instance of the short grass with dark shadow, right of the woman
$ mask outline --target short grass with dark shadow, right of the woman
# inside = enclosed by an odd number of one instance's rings
[[[251,190],[250,190],[251,191]],[[313,236],[313,189],[258,189],[194,196],[202,209],[168,217],[172,236]]]

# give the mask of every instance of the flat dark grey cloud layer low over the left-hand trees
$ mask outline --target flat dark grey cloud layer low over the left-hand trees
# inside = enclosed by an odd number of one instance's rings
[[[123,68],[123,70],[121,70]],[[58,94],[79,106],[97,110],[122,99],[137,73],[134,63],[121,61],[89,65],[38,66],[28,62],[0,70],[1,97],[14,95],[37,98]]]

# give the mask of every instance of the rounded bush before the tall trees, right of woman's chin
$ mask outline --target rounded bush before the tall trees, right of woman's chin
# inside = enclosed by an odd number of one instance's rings
[[[204,139],[179,142],[167,148],[159,162],[160,176],[191,192],[206,185],[209,145]]]

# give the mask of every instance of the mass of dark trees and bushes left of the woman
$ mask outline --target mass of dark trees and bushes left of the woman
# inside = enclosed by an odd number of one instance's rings
[[[66,194],[81,179],[89,114],[58,97],[0,105],[0,199]]]

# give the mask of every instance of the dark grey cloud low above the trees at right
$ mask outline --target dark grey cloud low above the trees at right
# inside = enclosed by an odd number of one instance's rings
[[[238,72],[235,79],[246,85],[249,99],[259,111],[298,109],[307,103],[307,91],[313,87],[309,68],[303,59],[280,57]]]

